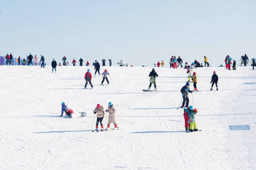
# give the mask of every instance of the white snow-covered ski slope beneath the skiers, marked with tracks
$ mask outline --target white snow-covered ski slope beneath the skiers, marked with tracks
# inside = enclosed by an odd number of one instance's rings
[[[57,67],[51,74],[48,66],[0,67],[0,170],[256,170],[251,67],[197,68],[193,103],[202,131],[192,133],[185,133],[183,110],[176,109],[185,69],[155,68],[162,93],[147,93],[151,67],[101,67],[110,86],[97,77],[93,89],[83,89],[87,68]],[[219,91],[209,91],[214,70]],[[86,117],[59,117],[61,102]],[[117,108],[120,130],[91,132],[93,109],[97,103],[107,109],[108,102]],[[106,128],[106,118],[103,123]]]

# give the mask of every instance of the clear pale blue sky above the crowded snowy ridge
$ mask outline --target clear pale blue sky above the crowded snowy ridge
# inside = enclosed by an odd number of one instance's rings
[[[256,57],[255,0],[1,0],[0,55],[153,66]]]

